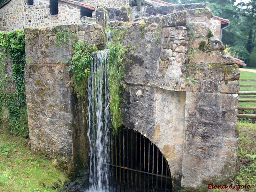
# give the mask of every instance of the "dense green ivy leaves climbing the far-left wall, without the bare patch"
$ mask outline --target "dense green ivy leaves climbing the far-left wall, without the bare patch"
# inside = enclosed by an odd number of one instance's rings
[[[1,79],[4,84],[1,85],[0,95],[1,101],[6,101],[8,110],[10,131],[14,135],[28,137],[28,115],[25,95],[25,34],[24,30],[8,31],[1,33],[1,45],[5,48],[1,49]],[[12,61],[12,79],[14,81],[14,92],[4,92],[7,84],[7,74],[2,69],[6,66],[6,51],[8,49],[9,57]],[[4,53],[5,52],[5,53]],[[5,58],[3,58],[3,56]],[[3,75],[3,76],[2,76]],[[3,78],[2,78],[3,77]]]

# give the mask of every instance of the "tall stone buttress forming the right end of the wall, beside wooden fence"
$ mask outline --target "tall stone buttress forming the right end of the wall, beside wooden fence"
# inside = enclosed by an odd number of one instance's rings
[[[239,70],[223,44],[211,37],[211,16],[209,9],[188,10],[189,51],[183,69],[190,89],[181,180],[188,191],[219,181],[228,184],[236,163]]]

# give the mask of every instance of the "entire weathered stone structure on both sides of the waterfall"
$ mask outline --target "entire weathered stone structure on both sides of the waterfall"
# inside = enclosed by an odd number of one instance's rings
[[[105,18],[101,13],[104,10],[96,14],[96,22]],[[211,17],[211,11],[203,8],[134,23],[110,22],[123,34],[120,44],[126,50],[124,82],[129,89],[123,91],[123,126],[140,132],[160,149],[175,190],[226,182],[236,162],[239,70],[224,54],[221,42],[211,37]],[[65,28],[86,44],[104,49],[101,26]],[[81,160],[86,166],[87,128],[76,108],[79,101],[66,86],[69,74],[63,63],[71,57],[72,39],[68,45],[55,44],[50,28],[26,29],[32,148]]]

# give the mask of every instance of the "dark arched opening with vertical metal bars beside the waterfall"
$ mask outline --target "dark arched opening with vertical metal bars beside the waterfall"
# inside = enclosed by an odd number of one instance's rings
[[[121,129],[111,136],[111,180],[113,191],[171,192],[169,166],[159,149],[138,132]]]

